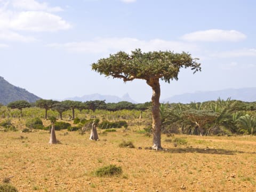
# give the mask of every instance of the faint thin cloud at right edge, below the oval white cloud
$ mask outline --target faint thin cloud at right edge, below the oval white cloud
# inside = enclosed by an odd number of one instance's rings
[[[256,57],[256,49],[242,49],[211,54],[215,58]]]

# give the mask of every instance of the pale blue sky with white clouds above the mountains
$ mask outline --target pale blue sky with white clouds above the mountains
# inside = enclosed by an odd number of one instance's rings
[[[202,71],[161,82],[161,99],[255,87],[254,0],[0,0],[0,76],[43,99],[87,94],[151,100],[145,81],[91,64],[118,51],[188,52]]]

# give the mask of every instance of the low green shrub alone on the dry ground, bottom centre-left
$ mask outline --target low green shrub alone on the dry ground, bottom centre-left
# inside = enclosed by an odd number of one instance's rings
[[[94,172],[94,174],[97,175],[98,177],[103,177],[103,176],[121,175],[122,172],[123,170],[121,166],[109,165],[109,166],[100,167],[98,170]]]

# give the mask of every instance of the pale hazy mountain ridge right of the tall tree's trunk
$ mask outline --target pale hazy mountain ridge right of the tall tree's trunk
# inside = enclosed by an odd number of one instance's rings
[[[229,97],[231,100],[241,100],[247,102],[256,101],[256,87],[225,89],[219,91],[197,91],[195,93],[174,95],[173,97],[163,99],[161,102],[190,103],[191,101],[203,102],[217,100],[218,98],[226,100]]]

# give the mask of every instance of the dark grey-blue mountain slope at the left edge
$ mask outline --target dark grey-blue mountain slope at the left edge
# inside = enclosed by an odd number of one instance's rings
[[[10,84],[0,76],[0,103],[3,105],[7,105],[9,102],[18,100],[35,102],[38,99],[41,98],[32,93],[29,93],[25,89]]]

